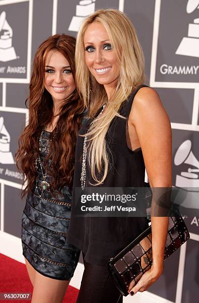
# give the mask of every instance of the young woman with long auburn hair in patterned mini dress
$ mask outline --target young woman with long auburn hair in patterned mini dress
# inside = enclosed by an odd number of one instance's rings
[[[66,240],[71,215],[76,137],[84,105],[75,83],[76,39],[54,35],[37,50],[30,82],[29,124],[17,165],[27,194],[22,246],[34,287],[32,303],[61,303],[80,251]]]

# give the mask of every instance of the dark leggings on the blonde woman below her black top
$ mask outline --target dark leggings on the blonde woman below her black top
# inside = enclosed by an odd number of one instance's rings
[[[77,303],[122,303],[122,295],[114,284],[106,266],[87,263],[84,260]]]

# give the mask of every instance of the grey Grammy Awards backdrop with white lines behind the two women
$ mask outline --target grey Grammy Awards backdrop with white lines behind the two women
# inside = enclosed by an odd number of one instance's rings
[[[1,235],[20,238],[21,233],[22,175],[14,154],[28,123],[24,102],[34,53],[52,34],[76,36],[85,16],[107,7],[124,11],[132,20],[149,83],[169,115],[173,186],[193,187],[199,195],[199,0],[0,0]],[[199,298],[199,217],[185,219],[191,240],[165,261],[164,274],[150,288],[167,302]]]

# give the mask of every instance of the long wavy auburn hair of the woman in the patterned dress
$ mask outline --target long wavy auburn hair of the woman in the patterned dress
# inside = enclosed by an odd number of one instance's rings
[[[30,81],[29,124],[19,138],[19,149],[16,152],[17,167],[24,175],[25,189],[22,197],[32,191],[37,177],[36,158],[39,153],[41,131],[53,117],[53,101],[44,87],[45,61],[50,50],[59,51],[69,62],[75,79],[75,46],[76,39],[68,35],[56,34],[45,40],[37,50],[33,62]],[[51,191],[60,191],[64,185],[72,186],[75,146],[77,133],[80,129],[82,112],[85,106],[77,89],[63,103],[55,129],[50,134],[52,143],[45,160],[45,169],[51,176]],[[48,160],[51,160],[48,167]]]

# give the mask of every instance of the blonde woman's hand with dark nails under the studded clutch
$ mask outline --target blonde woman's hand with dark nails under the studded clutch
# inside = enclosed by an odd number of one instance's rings
[[[129,285],[128,293],[133,296],[137,292],[144,292],[146,291],[154,282],[156,282],[159,276],[162,274],[163,269],[161,270],[154,270],[153,268],[146,271],[138,283],[131,288]]]

